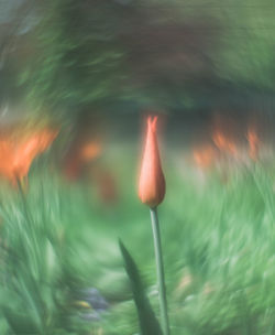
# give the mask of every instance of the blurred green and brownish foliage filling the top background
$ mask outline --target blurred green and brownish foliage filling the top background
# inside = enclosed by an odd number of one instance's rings
[[[274,90],[273,1],[51,0],[41,11],[19,74],[34,105],[194,110]]]

